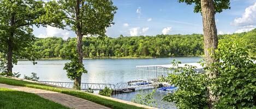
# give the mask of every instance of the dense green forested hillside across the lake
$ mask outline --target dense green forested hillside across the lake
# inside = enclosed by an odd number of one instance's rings
[[[84,37],[84,57],[170,57],[200,56],[204,53],[203,35],[156,35],[136,37]],[[256,29],[248,33],[219,35],[219,43],[241,40],[253,48],[255,56]],[[33,43],[39,58],[65,57],[67,49],[75,47],[76,39],[64,41],[61,38],[49,37],[38,39]]]

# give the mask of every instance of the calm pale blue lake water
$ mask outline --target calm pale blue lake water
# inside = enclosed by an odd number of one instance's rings
[[[139,79],[136,74],[136,66],[142,65],[166,65],[170,64],[172,60],[178,60],[182,63],[198,62],[202,57],[169,57],[156,59],[85,59],[84,65],[88,70],[87,74],[82,75],[82,82],[92,83],[110,83],[116,84],[118,82],[127,82],[130,80]],[[31,75],[32,72],[37,73],[40,81],[62,81],[71,82],[66,76],[66,70],[63,70],[64,63],[68,60],[40,60],[36,65],[31,61],[19,61],[14,66],[14,72],[20,72],[21,78],[24,75]],[[148,93],[152,89],[144,91],[135,91],[132,93],[123,93],[114,95],[114,98],[123,100],[132,100],[138,93]],[[161,99],[166,94],[163,91],[156,91],[154,99],[157,100],[158,105],[164,108],[175,108],[171,103],[163,102]]]

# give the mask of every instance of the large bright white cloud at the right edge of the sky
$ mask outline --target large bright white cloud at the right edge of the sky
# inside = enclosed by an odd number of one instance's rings
[[[242,17],[235,18],[235,25],[252,25],[256,23],[256,3],[245,9]]]

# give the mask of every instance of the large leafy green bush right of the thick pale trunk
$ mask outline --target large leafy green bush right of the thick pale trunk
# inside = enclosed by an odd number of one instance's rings
[[[240,42],[219,44],[215,62],[217,71],[211,88],[220,97],[216,108],[256,108],[256,64],[249,58],[248,46]]]

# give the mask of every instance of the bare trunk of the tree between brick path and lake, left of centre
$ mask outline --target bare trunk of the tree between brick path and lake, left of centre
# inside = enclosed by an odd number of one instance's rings
[[[79,0],[76,0],[76,21],[79,21],[80,20],[80,1]],[[78,44],[76,45],[76,50],[79,54],[79,63],[82,64],[82,30],[81,30],[81,26],[80,24],[76,24],[76,28],[77,28],[77,31],[76,31],[76,35],[77,35],[77,41],[78,41]],[[75,89],[80,89],[81,88],[81,76],[79,77],[76,77],[75,80],[74,80],[74,88]]]

